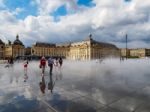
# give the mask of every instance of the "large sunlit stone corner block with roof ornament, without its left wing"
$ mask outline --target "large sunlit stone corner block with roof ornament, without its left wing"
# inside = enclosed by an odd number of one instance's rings
[[[119,49],[109,43],[98,42],[90,35],[87,39],[72,43],[70,46],[70,59],[91,60],[106,57],[119,57]]]

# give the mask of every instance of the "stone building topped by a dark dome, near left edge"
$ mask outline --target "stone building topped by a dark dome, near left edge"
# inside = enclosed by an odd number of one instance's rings
[[[24,56],[24,45],[19,40],[19,36],[16,36],[16,40],[11,43],[10,41],[8,44],[5,45],[5,57],[6,58],[16,58],[18,56]]]

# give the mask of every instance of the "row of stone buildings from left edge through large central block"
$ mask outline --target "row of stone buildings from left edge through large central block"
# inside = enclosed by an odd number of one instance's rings
[[[73,60],[91,60],[120,56],[120,50],[113,44],[98,42],[89,35],[85,40],[66,44],[36,42],[32,47],[25,48],[16,36],[16,40],[4,45],[0,41],[1,58],[19,57],[64,57]]]

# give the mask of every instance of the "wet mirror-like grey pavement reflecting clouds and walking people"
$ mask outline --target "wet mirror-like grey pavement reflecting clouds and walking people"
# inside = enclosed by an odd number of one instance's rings
[[[149,112],[149,62],[65,60],[44,76],[38,62],[29,63],[27,75],[23,62],[1,64],[0,112]]]

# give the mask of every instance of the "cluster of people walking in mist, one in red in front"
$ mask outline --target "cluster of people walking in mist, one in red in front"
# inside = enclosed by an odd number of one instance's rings
[[[52,74],[52,71],[53,71],[53,66],[56,66],[56,67],[61,67],[63,64],[63,60],[62,58],[49,58],[48,59],[48,66],[50,68],[50,74]],[[42,69],[42,74],[44,74],[45,72],[45,68],[46,68],[46,59],[45,57],[43,56],[40,60],[40,65],[39,67]]]

